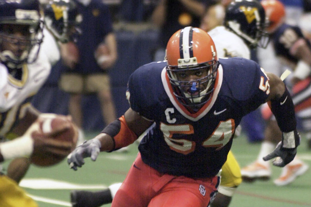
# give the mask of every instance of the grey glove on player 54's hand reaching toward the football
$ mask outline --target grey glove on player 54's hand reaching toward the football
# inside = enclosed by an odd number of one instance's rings
[[[95,161],[100,153],[100,141],[98,139],[91,139],[83,142],[80,146],[74,149],[67,156],[67,163],[73,170],[77,170],[77,167],[82,167],[84,164],[84,158],[91,157],[91,160]]]

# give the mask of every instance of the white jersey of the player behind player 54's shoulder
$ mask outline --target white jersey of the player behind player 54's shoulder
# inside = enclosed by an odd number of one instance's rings
[[[213,39],[218,58],[244,57],[250,59],[250,51],[243,39],[224,26],[217,26],[208,34]]]

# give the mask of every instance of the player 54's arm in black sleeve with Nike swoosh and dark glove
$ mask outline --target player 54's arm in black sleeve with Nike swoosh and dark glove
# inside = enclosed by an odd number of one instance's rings
[[[300,143],[300,136],[296,129],[295,109],[290,93],[280,78],[271,73],[267,73],[267,75],[270,84],[270,95],[267,101],[270,101],[269,106],[282,131],[282,141],[263,160],[276,158],[272,162],[273,165],[284,167],[294,159],[296,148]]]

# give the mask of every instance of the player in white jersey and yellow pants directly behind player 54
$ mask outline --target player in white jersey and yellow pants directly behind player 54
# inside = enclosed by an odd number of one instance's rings
[[[256,18],[249,19],[249,16],[256,16]],[[224,22],[224,26],[218,26],[222,22]],[[265,11],[260,2],[256,0],[232,1],[226,9],[220,3],[215,2],[208,7],[200,27],[207,31],[213,39],[218,58],[236,56],[250,59],[250,47],[257,47],[258,44],[261,47],[265,47],[262,44],[264,41],[260,41],[266,34],[264,32]],[[230,39],[231,41],[224,41],[225,39]],[[260,110],[258,110],[258,113],[260,113]],[[254,122],[252,122],[252,125],[255,125],[254,128],[257,129],[255,131],[263,137],[263,129],[260,130],[261,128]],[[238,134],[237,131],[238,129],[236,129],[235,135]],[[254,130],[249,129],[249,131]],[[218,193],[211,203],[211,207],[229,206],[234,192],[242,182],[239,164],[231,151],[229,151],[227,160],[221,170]],[[71,191],[72,205],[73,207],[99,206],[111,203],[121,184],[114,183],[108,188],[96,192]]]

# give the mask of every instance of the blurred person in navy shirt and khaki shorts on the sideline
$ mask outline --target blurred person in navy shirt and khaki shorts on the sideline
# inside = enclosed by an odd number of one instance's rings
[[[77,42],[61,45],[63,71],[60,88],[70,93],[69,113],[82,128],[82,95],[96,94],[105,123],[116,119],[108,70],[117,59],[117,46],[109,8],[101,0],[75,0],[82,15]],[[66,60],[66,61],[64,61]]]

